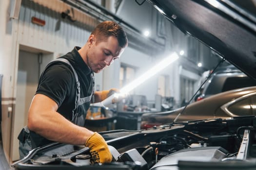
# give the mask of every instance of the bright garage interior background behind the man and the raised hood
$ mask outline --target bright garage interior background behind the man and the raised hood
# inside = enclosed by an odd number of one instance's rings
[[[17,136],[27,124],[42,70],[83,46],[101,21],[123,26],[128,47],[95,74],[96,90],[121,89],[172,52],[179,58],[130,91],[127,100],[104,111],[91,107],[86,123],[95,131],[138,130],[143,113],[179,108],[197,92],[203,73],[222,60],[145,0],[1,0],[0,13],[1,141],[9,163],[19,159]]]

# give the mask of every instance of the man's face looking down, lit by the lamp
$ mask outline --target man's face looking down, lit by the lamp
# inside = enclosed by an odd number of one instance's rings
[[[91,37],[91,36],[90,36]],[[118,40],[115,36],[110,36],[106,41],[97,42],[97,39],[89,38],[89,51],[87,53],[87,64],[98,73],[105,67],[118,59],[124,48],[118,46]]]

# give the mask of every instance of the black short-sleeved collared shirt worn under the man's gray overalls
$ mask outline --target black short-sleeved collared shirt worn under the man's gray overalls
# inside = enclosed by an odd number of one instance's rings
[[[79,55],[79,49],[79,47],[75,47],[73,51],[68,52],[60,58],[67,59],[73,68],[75,68],[80,82],[80,97],[83,98],[90,96],[93,91],[91,80],[92,71]],[[72,121],[72,111],[76,106],[76,90],[76,77],[70,66],[63,62],[55,62],[50,67],[46,68],[40,76],[36,94],[43,94],[54,100],[59,106],[57,112]],[[77,124],[79,126],[84,126],[84,119],[89,106],[90,102],[85,102],[78,106],[77,112],[80,121]],[[34,147],[52,142],[34,132],[31,132],[31,139]]]

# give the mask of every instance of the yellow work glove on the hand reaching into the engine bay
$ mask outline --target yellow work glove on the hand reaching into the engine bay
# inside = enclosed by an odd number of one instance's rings
[[[108,145],[104,138],[95,132],[90,136],[85,146],[90,148],[92,160],[94,163],[110,163],[112,161],[112,154],[108,149]]]

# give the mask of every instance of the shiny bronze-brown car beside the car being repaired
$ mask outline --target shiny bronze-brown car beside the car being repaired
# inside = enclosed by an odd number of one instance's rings
[[[175,110],[157,113],[145,113],[141,116],[141,129],[173,122],[179,113],[178,121],[222,118],[256,115],[256,109],[251,108],[256,100],[256,86],[229,90],[204,100],[193,102]],[[245,103],[248,104],[245,107]],[[176,120],[176,121],[177,121]]]

